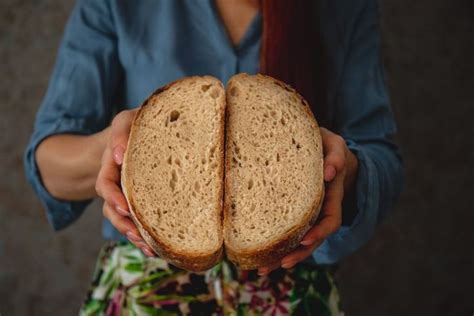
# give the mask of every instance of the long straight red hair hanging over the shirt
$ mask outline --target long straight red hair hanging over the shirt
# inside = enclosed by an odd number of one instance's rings
[[[260,72],[282,80],[308,101],[325,121],[325,53],[319,1],[261,0],[263,15]]]

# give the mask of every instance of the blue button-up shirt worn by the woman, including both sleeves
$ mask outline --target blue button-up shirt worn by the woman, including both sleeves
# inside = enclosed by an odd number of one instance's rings
[[[392,141],[376,1],[321,3],[328,114],[359,160],[355,194],[343,203],[343,213],[355,216],[313,253],[318,263],[334,263],[366,243],[390,210],[402,187],[402,163]],[[24,160],[54,229],[74,222],[90,200],[58,200],[45,189],[35,162],[41,141],[99,132],[117,111],[139,106],[157,87],[184,76],[226,82],[239,72],[257,73],[261,19],[256,16],[234,47],[212,0],[77,1]],[[123,238],[107,220],[103,235]]]

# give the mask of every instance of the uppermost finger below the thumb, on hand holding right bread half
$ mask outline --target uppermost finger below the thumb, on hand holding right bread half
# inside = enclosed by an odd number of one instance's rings
[[[330,234],[336,232],[342,222],[342,198],[344,195],[343,176],[337,176],[327,188],[324,205],[318,222],[304,236],[302,245],[322,242]]]

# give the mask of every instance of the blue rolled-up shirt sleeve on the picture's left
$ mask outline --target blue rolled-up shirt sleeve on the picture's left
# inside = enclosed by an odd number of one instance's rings
[[[104,129],[112,116],[119,77],[114,25],[107,1],[78,1],[66,25],[24,155],[27,180],[55,230],[75,221],[91,200],[53,197],[42,182],[36,149],[55,134],[89,135]]]

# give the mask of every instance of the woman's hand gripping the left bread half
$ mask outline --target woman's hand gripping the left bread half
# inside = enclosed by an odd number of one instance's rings
[[[97,194],[104,199],[103,214],[112,225],[122,235],[127,236],[130,242],[140,248],[145,255],[155,256],[153,250],[140,237],[137,227],[130,219],[127,200],[120,185],[120,168],[136,111],[122,111],[112,121],[95,189]]]

